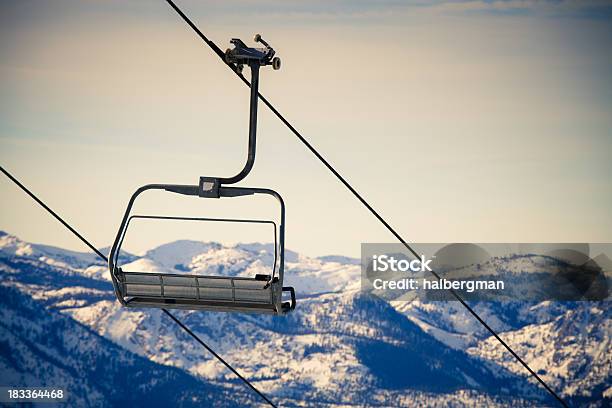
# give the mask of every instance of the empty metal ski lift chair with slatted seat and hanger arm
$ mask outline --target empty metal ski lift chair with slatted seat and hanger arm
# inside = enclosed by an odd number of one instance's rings
[[[295,290],[283,286],[285,204],[282,197],[276,191],[267,188],[226,186],[244,179],[255,162],[259,68],[266,65],[272,65],[274,69],[280,68],[280,59],[274,57],[275,52],[268,43],[261,39],[260,35],[255,36],[255,41],[261,42],[265,48],[249,48],[241,40],[232,39],[234,48],[228,49],[225,53],[227,64],[236,72],[241,73],[244,65],[248,65],[251,69],[249,144],[246,164],[238,174],[229,178],[200,177],[197,185],[148,184],[136,190],[128,203],[108,257],[115,294],[124,306],[277,315],[285,314],[295,308]],[[137,197],[149,190],[215,199],[268,195],[276,198],[280,205],[280,222],[277,225],[268,220],[131,215]],[[178,274],[174,271],[160,273],[127,270],[119,265],[119,255],[130,221],[137,218],[272,224],[274,226],[272,272],[269,275],[258,274],[254,277],[225,277]],[[289,300],[285,301],[283,294],[287,293]]]

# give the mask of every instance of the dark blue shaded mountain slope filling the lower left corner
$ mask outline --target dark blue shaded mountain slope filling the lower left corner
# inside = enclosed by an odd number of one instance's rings
[[[16,288],[0,286],[0,305],[3,385],[61,388],[70,406],[253,402],[242,390],[204,382],[131,353],[68,316],[45,310]]]

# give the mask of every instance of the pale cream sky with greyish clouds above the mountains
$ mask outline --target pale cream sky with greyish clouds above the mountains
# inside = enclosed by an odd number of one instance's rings
[[[261,92],[412,242],[612,242],[612,6],[600,1],[193,1],[222,49],[261,33]],[[0,3],[0,163],[94,245],[132,192],[242,166],[248,89],[164,1]],[[248,73],[248,72],[247,72]],[[265,107],[244,186],[286,245],[393,237]],[[6,178],[0,230],[86,248]],[[148,193],[140,214],[276,217],[267,198]],[[125,248],[266,242],[261,226],[135,224]]]

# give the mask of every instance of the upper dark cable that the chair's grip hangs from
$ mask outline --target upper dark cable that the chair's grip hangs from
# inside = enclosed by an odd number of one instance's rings
[[[185,15],[185,13],[183,13],[183,11],[172,0],[166,0],[166,2],[174,9],[174,11],[177,12],[179,16],[183,18],[185,23],[187,23],[187,25],[191,27],[193,31],[196,32],[196,34],[213,50],[213,52],[217,54],[217,56],[221,59],[221,61],[223,61],[223,63],[227,65],[242,80],[242,82],[244,82],[248,87],[250,87],[251,84],[244,77],[244,75],[242,75],[242,73],[239,70],[237,70],[234,65],[228,64],[225,61],[225,54],[223,53],[223,51],[221,51],[221,49],[213,41],[209,40],[204,35],[204,33],[200,31],[200,29],[189,19],[189,17]],[[361,202],[361,204],[363,204],[372,213],[372,215],[374,215],[374,217],[376,217],[376,219],[378,219],[378,221],[380,221],[380,223],[382,223],[385,226],[385,228],[389,232],[391,232],[391,234],[393,234],[393,236],[399,242],[401,242],[406,247],[406,249],[408,249],[408,251],[410,251],[415,257],[418,258],[419,257],[418,253],[406,242],[406,240],[404,240],[404,238],[402,238],[402,236],[397,231],[395,231],[395,229],[378,213],[378,211],[376,211],[366,201],[366,199],[363,198],[361,194],[359,194],[357,190],[355,190],[355,188],[353,188],[353,186],[317,151],[317,149],[315,149],[310,144],[310,142],[308,142],[308,140],[306,140],[304,136],[302,136],[302,134],[298,132],[298,130],[295,127],[293,127],[293,125],[291,125],[291,123],[289,123],[287,119],[285,119],[285,117],[272,105],[272,103],[268,101],[261,94],[261,92],[258,92],[258,96],[259,96],[259,99],[272,111],[272,113],[274,113],[276,117],[278,117],[278,119],[280,119],[280,121],[289,128],[289,130],[291,130],[291,132],[300,140],[300,142],[302,142],[308,148],[308,150],[310,150],[310,152],[314,154],[315,157],[319,159],[319,161],[323,163],[329,171],[332,172],[332,174],[355,196],[355,198],[357,198]],[[434,275],[436,279],[438,280],[441,279],[440,275],[437,272],[431,271],[431,273]],[[499,335],[491,328],[491,326],[489,326],[474,311],[474,309],[472,309],[472,307],[470,307],[463,300],[463,298],[455,290],[453,289],[448,289],[448,290],[455,297],[455,299],[457,299],[470,312],[470,314],[474,316],[476,320],[478,320],[478,322],[480,322],[480,324],[485,329],[487,329],[487,331],[491,333],[497,339],[497,341],[499,341],[499,343],[502,346],[504,346],[506,350],[508,350],[510,354],[512,354],[512,356],[529,372],[529,374],[531,374],[553,397],[555,397],[562,406],[568,407],[567,403],[551,387],[549,387],[548,384],[546,384],[544,380],[542,380],[542,378],[535,371],[533,371],[531,367],[529,367],[529,365],[527,365],[527,363],[518,354],[516,354],[514,350],[512,350],[512,348],[510,348],[510,346],[501,337],[499,337]]]

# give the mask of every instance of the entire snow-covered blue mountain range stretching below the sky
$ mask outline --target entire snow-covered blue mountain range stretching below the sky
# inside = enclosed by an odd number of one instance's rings
[[[41,364],[50,366],[54,353],[72,356],[76,365],[90,361],[95,350],[115,356],[111,365],[116,370],[129,372],[126,360],[139,367],[151,365],[143,371],[168,370],[155,374],[168,384],[160,387],[173,390],[166,398],[175,400],[164,400],[166,405],[183,403],[185,396],[208,405],[206,395],[216,395],[216,402],[256,404],[231,373],[162,313],[121,308],[99,259],[45,248],[51,247],[0,235],[0,288],[8,293],[0,294],[5,302],[0,325],[2,378],[19,384],[53,378],[50,369],[27,378],[5,377],[4,373],[27,371],[20,371],[10,358],[14,350],[35,354]],[[131,262],[130,269],[240,276],[266,273],[272,251],[266,244],[226,247],[177,241],[142,257],[128,254],[125,262]],[[388,303],[361,292],[359,278],[358,261],[308,258],[288,251],[287,283],[298,290],[298,307],[292,314],[176,314],[282,406],[554,405],[457,302]],[[610,404],[612,316],[607,302],[481,302],[474,307],[571,403]],[[34,314],[33,309],[38,311],[35,319],[23,317]],[[27,351],[21,344],[32,348],[40,340],[34,333],[42,328],[54,333],[56,341],[47,346],[53,352]],[[103,375],[96,381],[114,377]],[[93,385],[85,380],[81,384],[68,374],[64,378],[75,395],[82,394],[79,398],[94,395],[87,392]],[[142,389],[150,390],[149,380],[142,375]],[[170,388],[173,381],[189,386],[175,393]],[[98,394],[107,405],[116,402],[105,388]]]

